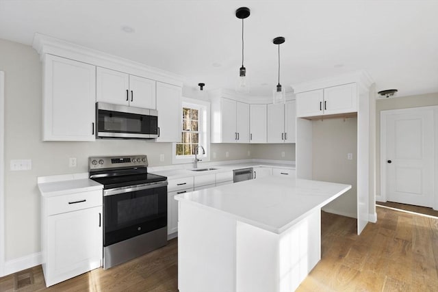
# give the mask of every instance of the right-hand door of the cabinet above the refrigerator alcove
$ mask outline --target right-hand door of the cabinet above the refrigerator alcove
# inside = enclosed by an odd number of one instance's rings
[[[324,88],[324,115],[355,111],[357,111],[356,83]]]

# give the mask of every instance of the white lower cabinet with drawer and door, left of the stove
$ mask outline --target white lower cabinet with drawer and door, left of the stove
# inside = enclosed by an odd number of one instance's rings
[[[102,191],[42,200],[42,270],[49,287],[101,267]]]

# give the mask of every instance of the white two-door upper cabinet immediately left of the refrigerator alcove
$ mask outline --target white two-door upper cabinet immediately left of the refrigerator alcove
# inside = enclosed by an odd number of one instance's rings
[[[268,143],[295,143],[295,101],[287,101],[285,104],[269,104],[267,120]]]

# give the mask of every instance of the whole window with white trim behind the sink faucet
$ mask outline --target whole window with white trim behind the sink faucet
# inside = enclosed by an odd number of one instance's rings
[[[203,161],[209,160],[210,104],[192,98],[183,98],[181,108],[181,142],[172,146],[172,163],[192,163],[195,151]],[[203,150],[198,147],[203,147]]]

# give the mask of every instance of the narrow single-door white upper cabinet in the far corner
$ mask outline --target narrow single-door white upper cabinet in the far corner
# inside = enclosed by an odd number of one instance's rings
[[[250,143],[266,143],[266,105],[250,105]]]

